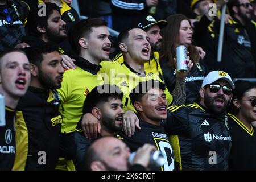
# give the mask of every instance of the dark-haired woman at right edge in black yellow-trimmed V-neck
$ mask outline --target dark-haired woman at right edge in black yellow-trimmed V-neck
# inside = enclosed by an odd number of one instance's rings
[[[256,86],[238,80],[233,90],[228,127],[232,138],[229,154],[230,170],[256,170],[256,134],[251,125],[256,121]]]

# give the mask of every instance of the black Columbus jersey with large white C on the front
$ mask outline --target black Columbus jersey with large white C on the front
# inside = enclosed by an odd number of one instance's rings
[[[141,126],[141,130],[135,129],[135,134],[132,137],[127,137],[123,133],[117,134],[130,147],[131,152],[136,151],[145,143],[156,146],[166,156],[168,164],[164,164],[161,168],[152,168],[152,170],[173,171],[174,153],[163,126],[152,125],[151,123],[142,121],[142,119],[139,119],[139,126]]]

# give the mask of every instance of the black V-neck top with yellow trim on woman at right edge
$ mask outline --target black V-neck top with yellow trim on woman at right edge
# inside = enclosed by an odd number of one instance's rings
[[[229,155],[229,170],[256,170],[255,127],[247,129],[234,115],[229,114],[229,130],[232,147]]]

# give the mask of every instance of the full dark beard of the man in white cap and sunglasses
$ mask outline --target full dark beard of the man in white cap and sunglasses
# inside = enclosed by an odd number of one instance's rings
[[[214,101],[218,98],[221,98],[224,101],[223,106],[214,105]],[[221,94],[218,94],[215,97],[210,97],[207,93],[204,94],[204,104],[209,109],[209,111],[213,114],[224,113],[228,109],[228,106],[230,104],[230,100],[231,100],[231,98],[229,100],[226,100],[224,98],[224,96],[222,96]]]

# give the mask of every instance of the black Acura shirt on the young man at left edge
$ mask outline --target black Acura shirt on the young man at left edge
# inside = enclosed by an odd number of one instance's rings
[[[0,171],[10,171],[15,160],[15,112],[5,107],[5,126],[0,126]]]

